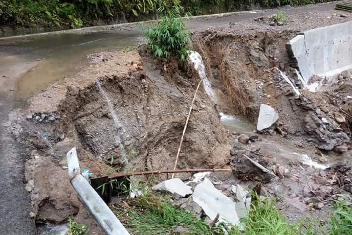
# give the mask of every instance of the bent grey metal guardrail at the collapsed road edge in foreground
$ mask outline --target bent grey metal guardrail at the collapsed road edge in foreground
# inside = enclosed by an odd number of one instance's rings
[[[76,190],[82,204],[94,217],[96,222],[98,222],[107,235],[129,235],[124,225],[121,224],[99,194],[81,175],[76,148],[68,151],[66,156],[70,182]]]

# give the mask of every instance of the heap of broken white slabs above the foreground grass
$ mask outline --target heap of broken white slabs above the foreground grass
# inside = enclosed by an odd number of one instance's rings
[[[183,200],[180,196],[185,197],[191,194],[192,203],[188,204],[191,206],[189,211],[198,214],[199,217],[202,217],[200,214],[204,213],[212,226],[218,223],[239,225],[240,218],[244,218],[250,208],[251,195],[249,191],[240,185],[229,185],[226,188],[226,191],[228,191],[228,196],[226,196],[205,175],[204,173],[195,174],[195,180],[190,181],[193,183],[191,184],[193,187],[186,185],[190,182],[185,184],[180,179],[175,178],[163,181],[154,186],[153,190],[164,190],[177,194],[178,197],[176,198],[178,198],[180,207],[183,207],[182,204],[188,200]],[[199,183],[200,178],[204,179]]]

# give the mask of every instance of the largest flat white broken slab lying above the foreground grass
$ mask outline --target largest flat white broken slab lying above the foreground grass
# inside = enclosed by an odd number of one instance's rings
[[[219,214],[218,223],[239,224],[236,203],[217,190],[208,178],[195,187],[192,197],[210,219]]]

